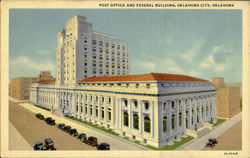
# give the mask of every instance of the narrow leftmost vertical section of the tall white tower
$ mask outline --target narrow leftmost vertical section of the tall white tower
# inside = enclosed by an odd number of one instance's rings
[[[60,30],[57,34],[56,50],[56,83],[64,84],[64,38],[65,30]]]

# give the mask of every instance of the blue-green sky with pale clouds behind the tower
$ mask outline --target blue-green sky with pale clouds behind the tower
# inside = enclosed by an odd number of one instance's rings
[[[12,9],[9,76],[55,76],[57,32],[74,15],[130,43],[131,74],[242,80],[241,10]]]

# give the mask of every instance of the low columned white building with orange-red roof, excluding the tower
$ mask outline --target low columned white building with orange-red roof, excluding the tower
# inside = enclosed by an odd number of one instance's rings
[[[216,122],[216,88],[183,75],[90,77],[74,86],[39,81],[30,101],[161,147]]]

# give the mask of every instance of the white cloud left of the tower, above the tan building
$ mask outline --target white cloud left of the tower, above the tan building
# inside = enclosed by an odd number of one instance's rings
[[[24,70],[39,70],[39,71],[54,71],[56,66],[50,61],[39,63],[34,62],[26,56],[19,56],[16,59],[10,61],[10,65],[14,68],[22,68]]]

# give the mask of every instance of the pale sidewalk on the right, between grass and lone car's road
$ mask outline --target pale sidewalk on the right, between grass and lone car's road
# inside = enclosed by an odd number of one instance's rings
[[[242,120],[242,113],[239,113],[236,116],[234,116],[233,118],[228,119],[226,122],[224,122],[221,125],[219,125],[218,127],[216,127],[210,133],[179,147],[177,150],[201,150],[205,147],[209,138],[211,138],[211,137],[218,138],[223,133],[225,133],[227,130],[232,128],[240,120]]]

